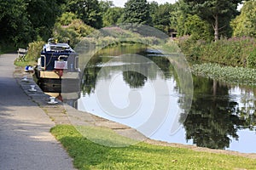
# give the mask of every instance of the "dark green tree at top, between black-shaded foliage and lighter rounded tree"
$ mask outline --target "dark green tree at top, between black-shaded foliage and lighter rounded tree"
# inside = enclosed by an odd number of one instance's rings
[[[67,1],[67,12],[77,14],[88,26],[102,27],[102,13],[98,0],[72,0]]]

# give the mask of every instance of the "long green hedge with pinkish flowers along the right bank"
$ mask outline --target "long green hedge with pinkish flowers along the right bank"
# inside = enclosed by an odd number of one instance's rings
[[[189,60],[256,68],[252,63],[256,58],[253,37],[221,38],[217,42],[193,41],[183,37],[179,40],[179,47]]]

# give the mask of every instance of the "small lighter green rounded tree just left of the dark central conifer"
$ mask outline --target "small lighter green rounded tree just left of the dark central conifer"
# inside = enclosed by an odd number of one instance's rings
[[[107,12],[103,14],[103,26],[113,26],[119,23],[119,19],[123,14],[123,8],[114,7],[108,8]]]

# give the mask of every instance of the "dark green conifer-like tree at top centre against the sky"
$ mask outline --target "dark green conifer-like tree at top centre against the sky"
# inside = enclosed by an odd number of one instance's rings
[[[124,22],[150,25],[151,17],[147,0],[129,0],[125,3]]]

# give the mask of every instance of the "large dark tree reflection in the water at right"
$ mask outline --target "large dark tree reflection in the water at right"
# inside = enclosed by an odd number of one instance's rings
[[[238,115],[238,103],[230,99],[227,86],[201,77],[193,80],[194,99],[183,123],[186,138],[201,147],[228,148],[230,137],[237,140],[237,130],[245,123]]]

